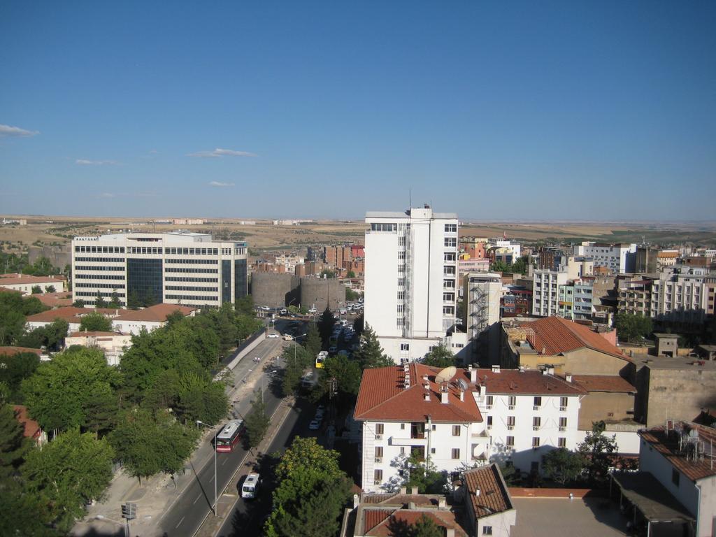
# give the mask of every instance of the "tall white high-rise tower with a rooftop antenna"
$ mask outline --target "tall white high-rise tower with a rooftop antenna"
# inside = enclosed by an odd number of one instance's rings
[[[365,222],[365,322],[395,362],[422,358],[455,324],[458,216],[425,205]]]

